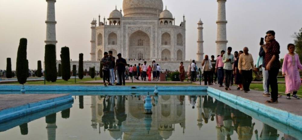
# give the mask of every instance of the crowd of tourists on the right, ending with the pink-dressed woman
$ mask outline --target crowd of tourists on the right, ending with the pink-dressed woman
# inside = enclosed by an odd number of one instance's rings
[[[302,70],[302,65],[298,54],[295,54],[295,45],[288,44],[287,49],[289,53],[284,56],[282,66],[282,76],[285,77],[287,99],[292,97],[300,99],[297,92],[301,86],[301,78],[299,70]],[[260,42],[259,55],[257,55],[257,62],[254,65],[252,54],[249,53],[249,48],[244,47],[243,51],[235,51],[232,54],[232,48],[228,47],[226,51],[221,51],[217,60],[211,56],[209,60],[208,55],[205,55],[201,63],[201,75],[204,77],[204,85],[212,85],[214,82],[219,84],[219,87],[224,87],[225,90],[231,90],[230,86],[233,81],[237,85],[237,90],[248,93],[250,91],[250,84],[253,79],[253,71],[258,72],[259,67],[262,69],[263,75],[263,96],[271,97],[266,103],[278,103],[278,83],[277,76],[281,68],[279,61],[280,45],[275,40],[275,32],[270,30],[266,32],[265,38]],[[180,79],[184,78],[183,63],[179,66]],[[197,66],[193,60],[188,67],[187,75],[195,82],[197,74]],[[215,76],[215,79],[214,79]],[[224,86],[223,86],[224,84]],[[271,92],[269,92],[269,87]]]

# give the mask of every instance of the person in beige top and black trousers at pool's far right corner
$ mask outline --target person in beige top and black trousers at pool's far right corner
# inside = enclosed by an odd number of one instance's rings
[[[202,66],[202,74],[204,74],[204,85],[208,84],[212,85],[212,79],[211,79],[211,71],[212,71],[212,64],[210,63],[209,56],[205,55],[204,60],[201,63]]]

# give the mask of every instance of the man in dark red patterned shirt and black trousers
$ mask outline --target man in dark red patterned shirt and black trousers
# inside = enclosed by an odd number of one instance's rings
[[[278,83],[277,76],[280,70],[280,45],[275,40],[275,32],[266,32],[269,43],[262,45],[265,51],[265,70],[268,70],[268,80],[271,86],[271,100],[266,103],[278,103]]]

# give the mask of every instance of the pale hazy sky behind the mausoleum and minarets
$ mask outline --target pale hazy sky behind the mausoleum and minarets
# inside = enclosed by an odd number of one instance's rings
[[[216,0],[163,0],[179,25],[186,16],[186,60],[196,59],[197,22],[204,23],[204,53],[216,53],[217,1]],[[68,46],[72,60],[84,54],[90,60],[90,23],[101,14],[108,18],[115,5],[120,9],[122,0],[57,0],[56,38],[57,59],[60,48]],[[267,30],[275,30],[281,46],[281,57],[287,53],[286,45],[302,27],[302,0],[227,0],[227,46],[233,50],[249,47],[254,59],[259,51],[259,41]],[[6,68],[6,58],[11,58],[15,70],[20,38],[27,38],[27,59],[30,69],[37,69],[37,61],[44,60],[46,39],[45,0],[0,0],[0,69]]]

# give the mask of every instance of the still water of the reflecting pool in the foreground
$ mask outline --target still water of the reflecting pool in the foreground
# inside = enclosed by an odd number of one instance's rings
[[[73,98],[73,104],[44,110],[0,124],[0,139],[302,139],[299,138],[302,133],[299,130],[295,130],[294,133],[281,132],[284,129],[276,127],[278,125],[273,121],[261,119],[259,116],[249,116],[231,105],[210,97],[207,93],[151,95],[152,115],[143,114],[146,95],[142,94],[76,95]]]

